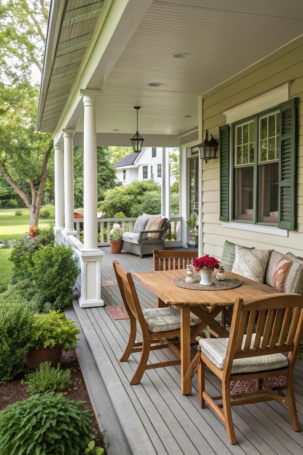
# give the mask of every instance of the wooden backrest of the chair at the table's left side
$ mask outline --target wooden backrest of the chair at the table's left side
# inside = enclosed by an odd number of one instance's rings
[[[146,329],[147,323],[144,319],[142,308],[139,302],[138,294],[134,286],[134,280],[131,273],[125,272],[120,266],[118,261],[112,261],[114,267],[114,273],[117,278],[121,297],[126,308],[127,313],[130,313],[137,319],[141,328]]]

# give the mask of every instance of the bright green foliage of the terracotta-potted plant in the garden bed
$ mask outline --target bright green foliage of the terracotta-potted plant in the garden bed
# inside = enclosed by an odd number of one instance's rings
[[[66,319],[64,313],[52,311],[48,314],[34,314],[30,336],[30,348],[38,349],[41,344],[45,348],[53,348],[55,344],[63,344],[65,351],[77,347],[77,335],[80,330],[75,321]]]

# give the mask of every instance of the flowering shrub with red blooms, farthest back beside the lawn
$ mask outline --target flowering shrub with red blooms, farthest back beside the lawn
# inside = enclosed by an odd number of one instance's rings
[[[33,268],[35,252],[46,245],[54,246],[54,242],[55,234],[52,226],[38,228],[35,237],[26,235],[17,240],[10,254],[15,280],[28,279]]]

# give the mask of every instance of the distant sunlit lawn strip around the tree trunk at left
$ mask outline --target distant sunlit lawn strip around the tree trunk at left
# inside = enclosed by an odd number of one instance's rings
[[[22,215],[16,216],[15,211],[21,210]],[[51,211],[49,218],[39,218],[39,226],[46,227],[54,219],[54,210]],[[0,240],[21,238],[28,231],[30,225],[30,211],[28,208],[0,209]]]

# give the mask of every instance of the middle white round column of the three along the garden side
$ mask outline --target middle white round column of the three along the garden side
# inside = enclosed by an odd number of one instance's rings
[[[63,130],[64,137],[64,232],[67,235],[76,235],[74,228],[74,160],[73,136],[75,130]]]

